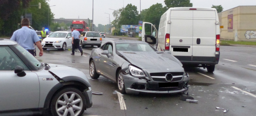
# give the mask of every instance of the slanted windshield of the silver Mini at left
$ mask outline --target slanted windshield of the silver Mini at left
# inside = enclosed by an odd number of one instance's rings
[[[20,45],[15,46],[20,53],[22,53],[35,67],[38,67],[40,69],[41,63],[31,54],[29,53],[26,49],[21,47]]]

